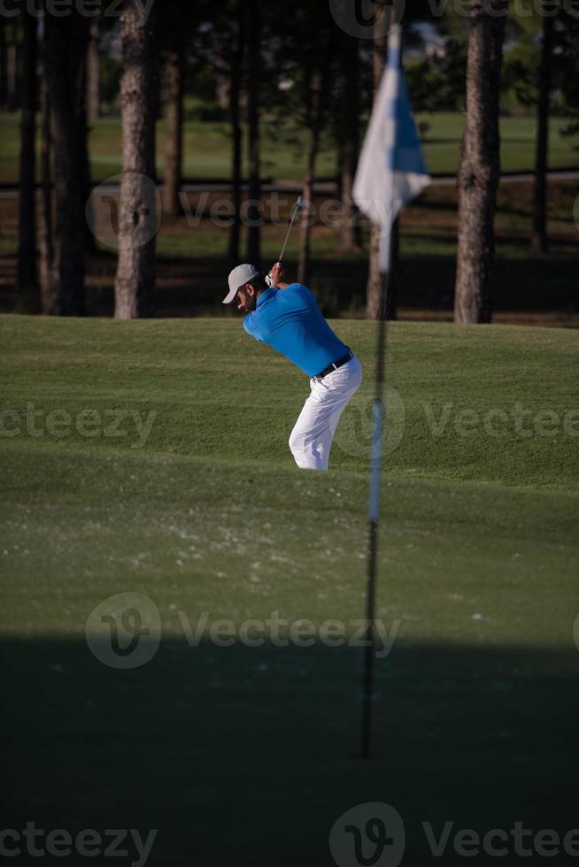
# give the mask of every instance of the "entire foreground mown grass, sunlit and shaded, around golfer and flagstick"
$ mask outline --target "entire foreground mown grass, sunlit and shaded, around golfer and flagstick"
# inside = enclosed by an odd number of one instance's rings
[[[360,648],[209,639],[364,616],[374,326],[333,325],[366,379],[316,474],[287,448],[307,380],[236,319],[0,320],[5,827],[158,829],[159,867],[319,867],[344,810],[387,802],[419,867],[422,822],[577,825],[575,333],[390,326],[371,761]],[[162,622],[127,671],[85,641],[121,592]],[[435,863],[463,861],[451,835]]]

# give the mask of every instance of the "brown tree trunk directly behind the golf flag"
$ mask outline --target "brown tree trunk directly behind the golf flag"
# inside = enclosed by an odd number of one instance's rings
[[[386,15],[386,9],[382,10]],[[390,10],[390,19],[393,20],[395,8]],[[388,52],[388,28],[383,27],[380,18],[374,22],[376,38],[373,42],[372,68],[374,73],[374,98],[380,88],[386,54]],[[398,254],[398,221],[392,226],[393,237],[390,248],[390,273],[385,274],[380,270],[380,237],[382,229],[373,223],[370,226],[370,249],[368,253],[368,280],[366,288],[366,318],[382,319],[396,318],[396,264]]]

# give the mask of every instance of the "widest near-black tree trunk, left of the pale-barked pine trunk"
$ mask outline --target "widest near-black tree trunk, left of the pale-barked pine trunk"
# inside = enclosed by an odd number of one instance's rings
[[[56,198],[52,280],[57,297],[50,312],[61,316],[81,316],[85,311],[85,215],[80,195],[83,181],[79,130],[89,19],[71,9],[66,18],[46,15],[44,28]]]

